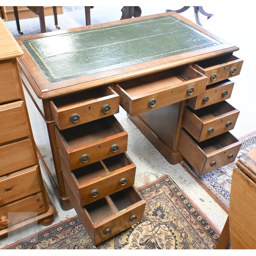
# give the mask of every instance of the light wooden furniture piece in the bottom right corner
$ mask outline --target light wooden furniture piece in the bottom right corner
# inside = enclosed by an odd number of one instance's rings
[[[229,216],[216,249],[256,249],[254,200],[256,193],[256,149],[249,151],[233,169]]]

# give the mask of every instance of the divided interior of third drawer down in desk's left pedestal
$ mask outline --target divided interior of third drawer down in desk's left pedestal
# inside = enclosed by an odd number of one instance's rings
[[[90,165],[73,170],[73,174],[79,184],[95,179],[99,176],[108,175],[117,169],[131,164],[124,153],[101,160]]]

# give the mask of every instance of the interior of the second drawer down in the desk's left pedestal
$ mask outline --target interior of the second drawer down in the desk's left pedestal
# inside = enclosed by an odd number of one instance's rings
[[[70,148],[92,143],[123,132],[123,128],[114,116],[105,117],[59,131]]]

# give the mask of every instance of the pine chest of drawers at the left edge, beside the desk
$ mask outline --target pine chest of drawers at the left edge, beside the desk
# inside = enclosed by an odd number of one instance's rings
[[[0,236],[29,223],[47,225],[54,209],[41,177],[17,57],[23,51],[0,19]],[[22,214],[34,212],[33,218]],[[15,218],[19,215],[19,218]],[[11,215],[10,215],[11,214]]]

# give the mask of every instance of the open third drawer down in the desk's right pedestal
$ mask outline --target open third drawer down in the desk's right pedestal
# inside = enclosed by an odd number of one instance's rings
[[[186,106],[182,127],[197,141],[201,142],[234,128],[240,111],[226,101],[222,101],[199,110]]]

